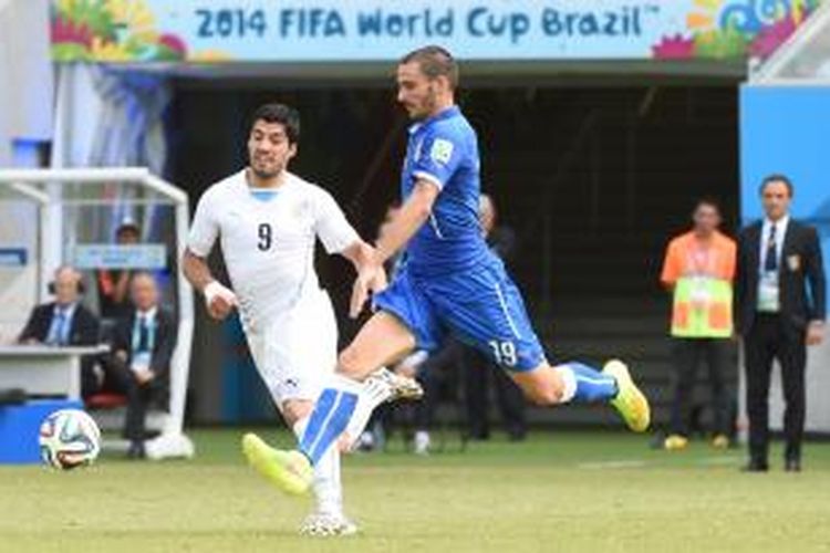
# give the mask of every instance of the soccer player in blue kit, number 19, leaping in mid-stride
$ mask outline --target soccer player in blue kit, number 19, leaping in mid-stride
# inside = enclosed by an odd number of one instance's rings
[[[415,348],[435,349],[447,333],[491,356],[536,404],[603,401],[632,430],[649,427],[649,401],[622,362],[600,371],[546,359],[519,290],[481,234],[478,140],[455,105],[457,84],[457,63],[439,46],[415,50],[397,65],[397,101],[414,122],[403,205],[378,239],[374,262],[360,271],[351,305],[356,316],[374,292],[375,313],[340,354],[338,374],[295,450],[272,449],[252,435],[242,439],[251,465],[283,491],[305,492],[318,459],[339,439],[359,435],[376,406],[360,385],[367,375]],[[402,249],[405,264],[382,290],[383,263]]]

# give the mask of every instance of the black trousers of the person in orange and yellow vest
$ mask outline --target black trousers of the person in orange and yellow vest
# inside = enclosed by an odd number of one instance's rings
[[[688,436],[689,404],[695,389],[697,367],[706,363],[712,386],[714,431],[732,435],[732,394],[728,378],[733,363],[733,344],[727,338],[674,338],[674,399],[672,401],[672,434]]]

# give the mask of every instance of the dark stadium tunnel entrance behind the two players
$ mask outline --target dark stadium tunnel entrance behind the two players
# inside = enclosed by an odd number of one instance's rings
[[[632,362],[654,399],[657,425],[667,418],[671,375],[670,302],[657,282],[664,248],[687,228],[703,196],[718,199],[725,229],[736,229],[738,80],[736,74],[536,84],[479,79],[460,92],[479,135],[484,189],[500,222],[518,234],[511,272],[549,355]],[[371,239],[397,198],[406,139],[407,122],[394,105],[391,82],[295,82],[177,79],[168,116],[173,180],[187,187],[195,204],[210,182],[245,165],[248,117],[256,106],[284,102],[302,116],[292,170],[332,191]],[[342,316],[352,270],[331,258],[319,267],[347,340],[356,330]],[[222,371],[207,369],[228,341],[239,337],[227,327],[197,325],[194,363],[203,369],[193,378],[199,420],[271,413],[256,376],[247,384],[229,376],[234,364],[242,363],[241,353],[226,358]],[[229,407],[228,394],[246,399],[238,405],[231,399],[236,407]],[[579,424],[612,418],[610,410],[590,407],[531,416]]]

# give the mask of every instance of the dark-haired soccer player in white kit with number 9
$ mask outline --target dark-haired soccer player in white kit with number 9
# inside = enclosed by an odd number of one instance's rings
[[[336,365],[336,322],[314,271],[315,240],[357,270],[373,248],[361,240],[329,192],[289,173],[299,135],[295,109],[282,104],[257,109],[248,138],[249,166],[203,195],[183,270],[205,295],[214,319],[239,310],[257,368],[286,422],[301,436]],[[214,279],[206,262],[217,239],[232,291]],[[370,380],[361,397],[373,404],[421,393],[413,380],[385,369]],[[259,440],[251,435],[246,439]],[[317,508],[301,532],[353,533],[356,528],[343,514],[338,448],[329,448],[315,466],[313,489]]]

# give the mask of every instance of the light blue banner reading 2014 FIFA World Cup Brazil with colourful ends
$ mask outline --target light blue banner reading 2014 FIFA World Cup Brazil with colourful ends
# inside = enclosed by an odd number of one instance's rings
[[[53,0],[52,56],[96,62],[766,58],[821,0]]]

